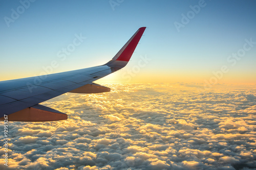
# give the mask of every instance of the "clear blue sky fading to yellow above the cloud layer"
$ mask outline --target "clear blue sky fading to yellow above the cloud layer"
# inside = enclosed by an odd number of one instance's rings
[[[53,72],[104,64],[138,28],[147,27],[124,71],[140,56],[151,61],[133,81],[203,83],[227,65],[229,71],[218,83],[256,83],[255,44],[234,66],[227,62],[245,39],[256,41],[254,1],[35,1],[27,9],[20,7],[27,2],[1,1],[0,80],[38,76],[53,60],[58,61]],[[182,14],[199,4],[200,11],[178,31],[174,23],[182,23]],[[7,23],[12,9],[25,10]],[[57,53],[76,35],[86,39],[59,60]]]

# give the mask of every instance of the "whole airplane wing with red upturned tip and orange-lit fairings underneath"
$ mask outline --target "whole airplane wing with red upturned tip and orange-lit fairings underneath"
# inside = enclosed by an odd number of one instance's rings
[[[68,115],[39,103],[66,92],[98,93],[110,88],[94,81],[124,67],[144,33],[142,27],[108,63],[57,74],[0,82],[0,119],[8,115],[9,121],[44,122],[67,119]]]

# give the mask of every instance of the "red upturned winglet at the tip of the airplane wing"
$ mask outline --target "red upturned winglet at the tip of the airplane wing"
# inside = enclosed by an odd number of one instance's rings
[[[130,60],[145,29],[146,29],[146,27],[139,28],[139,30],[132,36],[132,38],[122,47],[122,49],[120,50],[122,52],[121,52],[120,56],[116,59],[116,61],[129,61]]]

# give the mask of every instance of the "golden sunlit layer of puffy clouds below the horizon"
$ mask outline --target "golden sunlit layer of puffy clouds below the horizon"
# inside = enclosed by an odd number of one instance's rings
[[[105,86],[44,103],[68,120],[10,123],[9,169],[256,168],[254,87]]]

